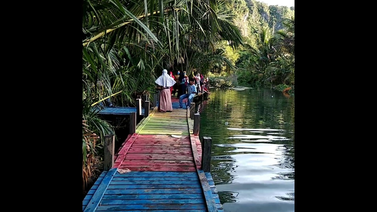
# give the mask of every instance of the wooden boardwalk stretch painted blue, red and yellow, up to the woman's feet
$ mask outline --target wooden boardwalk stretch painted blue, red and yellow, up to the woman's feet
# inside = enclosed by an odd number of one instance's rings
[[[210,173],[201,169],[201,143],[187,109],[159,113],[138,124],[83,201],[83,211],[223,212]],[[191,133],[190,133],[191,132]],[[174,138],[173,135],[181,136]]]

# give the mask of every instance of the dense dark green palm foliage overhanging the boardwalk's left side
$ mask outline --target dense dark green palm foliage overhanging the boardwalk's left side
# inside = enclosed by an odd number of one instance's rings
[[[83,190],[101,171],[103,137],[113,133],[92,112],[93,104],[120,92],[112,103],[134,106],[136,95],[155,92],[156,77],[171,66],[189,75],[232,71],[218,43],[237,49],[243,38],[227,5],[227,0],[83,1]]]

